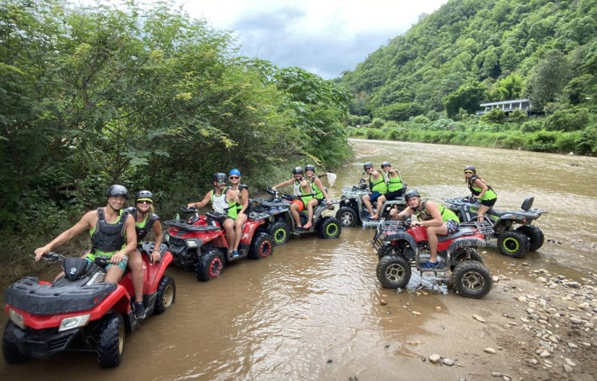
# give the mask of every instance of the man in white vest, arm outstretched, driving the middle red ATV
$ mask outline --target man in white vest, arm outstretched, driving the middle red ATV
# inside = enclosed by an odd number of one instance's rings
[[[240,203],[240,199],[236,192],[232,192],[226,186],[226,174],[222,172],[215,172],[213,174],[213,189],[205,194],[202,200],[196,203],[188,203],[187,208],[200,209],[211,202],[213,211],[217,213],[226,214],[226,219],[222,223],[224,231],[226,231],[226,240],[228,242],[234,241],[234,223],[237,216],[237,209],[235,205]],[[233,257],[233,246],[228,246],[229,257]]]

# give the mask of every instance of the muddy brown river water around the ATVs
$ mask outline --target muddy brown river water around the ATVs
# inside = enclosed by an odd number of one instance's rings
[[[491,148],[388,141],[352,141],[355,161],[338,171],[332,198],[358,183],[362,163],[390,161],[424,197],[467,196],[464,165],[498,193],[496,209],[518,209],[527,196],[547,209],[537,221],[546,243],[524,257],[572,279],[597,269],[597,159]],[[297,163],[300,164],[300,163]],[[425,318],[380,305],[399,299],[422,316],[460,298],[432,292],[396,295],[375,277],[373,229],[344,228],[336,240],[303,236],[277,246],[268,259],[229,264],[201,283],[169,268],[176,303],[126,336],[117,369],[100,369],[93,354],[65,353],[21,365],[0,363],[1,380],[398,380],[421,364],[401,345],[423,332]],[[490,270],[513,259],[484,250]],[[414,276],[414,273],[413,273]],[[48,279],[48,278],[46,278]],[[411,282],[412,283],[412,282]],[[463,299],[466,305],[469,299]],[[475,301],[482,303],[482,301]],[[2,323],[5,323],[3,316]],[[433,334],[433,333],[427,333]],[[417,378],[417,377],[415,377]],[[419,373],[420,379],[425,379]],[[451,378],[454,379],[454,378]],[[457,379],[457,378],[456,378]]]

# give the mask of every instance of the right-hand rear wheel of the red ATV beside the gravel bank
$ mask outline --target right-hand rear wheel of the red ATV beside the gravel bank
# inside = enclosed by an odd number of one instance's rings
[[[480,262],[457,264],[452,273],[452,285],[462,297],[481,299],[491,291],[492,284],[491,273]]]

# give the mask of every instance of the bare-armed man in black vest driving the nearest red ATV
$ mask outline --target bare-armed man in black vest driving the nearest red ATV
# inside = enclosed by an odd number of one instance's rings
[[[106,192],[106,198],[105,207],[88,211],[76,224],[60,233],[49,244],[35,249],[35,260],[38,261],[42,255],[49,253],[56,246],[89,230],[91,251],[83,257],[89,262],[93,262],[95,257],[108,257],[110,264],[106,266],[104,281],[118,283],[126,270],[128,255],[134,255],[132,253],[137,247],[137,235],[135,235],[132,216],[122,209],[128,198],[128,190],[122,185],[111,185]],[[143,267],[134,267],[130,270],[140,271],[143,278]]]

